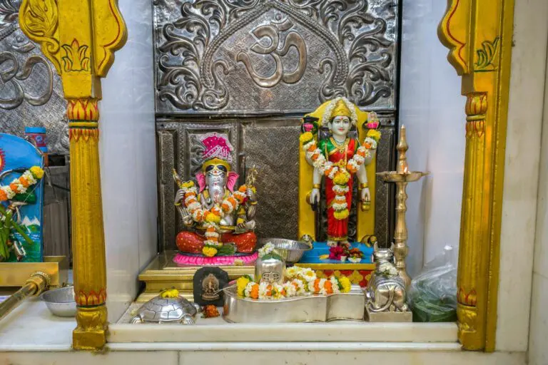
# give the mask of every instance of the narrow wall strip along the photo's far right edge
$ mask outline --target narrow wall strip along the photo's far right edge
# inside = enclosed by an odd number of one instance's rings
[[[544,14],[548,4],[544,4]],[[546,63],[548,69],[548,60]],[[548,364],[548,73],[544,84],[544,118],[537,200],[537,230],[534,239],[534,266],[529,327],[529,364]]]

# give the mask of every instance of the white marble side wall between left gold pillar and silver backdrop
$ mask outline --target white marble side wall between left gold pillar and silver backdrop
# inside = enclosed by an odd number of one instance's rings
[[[128,41],[103,80],[101,186],[106,239],[108,320],[137,294],[137,275],[156,255],[152,5],[120,0]]]

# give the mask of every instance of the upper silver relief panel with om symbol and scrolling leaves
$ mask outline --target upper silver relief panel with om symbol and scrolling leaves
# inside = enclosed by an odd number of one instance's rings
[[[156,1],[156,109],[395,109],[397,0]]]

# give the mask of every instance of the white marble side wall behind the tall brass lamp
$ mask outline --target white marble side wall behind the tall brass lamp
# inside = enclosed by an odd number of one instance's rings
[[[445,245],[459,244],[466,98],[437,38],[447,1],[402,4],[400,123],[407,128],[410,168],[430,171],[407,187],[407,265],[413,276]]]

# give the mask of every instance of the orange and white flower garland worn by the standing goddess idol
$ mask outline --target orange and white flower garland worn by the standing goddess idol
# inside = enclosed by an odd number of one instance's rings
[[[300,135],[300,141],[303,143],[303,150],[306,157],[312,161],[314,168],[320,170],[320,173],[333,180],[333,192],[335,192],[335,201],[333,210],[335,210],[335,219],[344,220],[348,217],[348,204],[346,194],[350,190],[347,183],[350,180],[350,174],[354,174],[365,163],[365,158],[371,157],[371,151],[377,148],[380,132],[369,130],[363,145],[357,148],[356,153],[347,161],[346,167],[339,167],[335,163],[327,160],[310,132]]]

